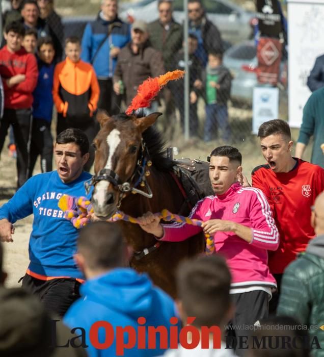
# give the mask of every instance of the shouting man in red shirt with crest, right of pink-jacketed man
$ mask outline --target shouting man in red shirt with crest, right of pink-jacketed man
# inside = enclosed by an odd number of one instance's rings
[[[293,142],[287,122],[275,119],[261,124],[258,137],[267,164],[252,171],[252,186],[267,197],[280,234],[279,248],[269,252],[268,261],[279,289],[269,306],[269,312],[275,312],[284,269],[315,236],[311,207],[324,190],[324,170],[291,156]]]

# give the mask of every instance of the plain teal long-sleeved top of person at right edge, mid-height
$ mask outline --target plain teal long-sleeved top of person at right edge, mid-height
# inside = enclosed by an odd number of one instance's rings
[[[298,142],[308,144],[314,136],[311,163],[324,168],[324,155],[320,145],[324,143],[324,87],[315,90],[304,107],[303,123]]]

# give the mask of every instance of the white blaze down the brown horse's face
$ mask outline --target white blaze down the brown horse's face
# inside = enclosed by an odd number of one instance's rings
[[[112,170],[113,156],[115,154],[116,148],[120,143],[120,131],[117,129],[112,130],[106,138],[107,145],[109,148],[109,155],[105,165],[105,169]],[[97,183],[94,190],[94,199],[97,201],[98,208],[103,209],[105,206],[105,193],[110,185],[110,182],[100,181]]]

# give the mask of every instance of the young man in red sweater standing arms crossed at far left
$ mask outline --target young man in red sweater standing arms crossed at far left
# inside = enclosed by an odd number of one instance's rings
[[[32,93],[38,77],[35,56],[21,47],[23,35],[22,23],[9,23],[5,29],[7,44],[0,50],[0,75],[5,91],[4,116],[0,120],[0,152],[5,143],[8,127],[12,124],[17,147],[18,188],[28,177]]]

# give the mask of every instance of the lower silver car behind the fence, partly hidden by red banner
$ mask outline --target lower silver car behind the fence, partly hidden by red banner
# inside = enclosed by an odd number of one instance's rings
[[[224,53],[223,64],[230,70],[233,81],[231,100],[233,104],[246,104],[252,106],[253,88],[258,85],[256,67],[258,65],[257,48],[254,41],[245,41],[236,44]],[[280,97],[287,97],[286,75],[287,63],[283,61],[280,66]]]

